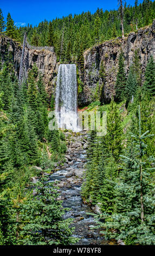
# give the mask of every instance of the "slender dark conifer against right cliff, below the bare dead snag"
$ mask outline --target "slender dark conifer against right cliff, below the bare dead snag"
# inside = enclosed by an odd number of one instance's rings
[[[126,88],[126,75],[125,75],[125,67],[124,67],[124,55],[121,50],[119,55],[117,81],[115,84],[115,101],[120,102],[125,99],[125,88]]]

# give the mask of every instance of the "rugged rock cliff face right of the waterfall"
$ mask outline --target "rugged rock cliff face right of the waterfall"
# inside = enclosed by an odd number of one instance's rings
[[[104,84],[104,99],[108,101],[115,94],[114,84],[118,70],[118,58],[120,49],[124,52],[126,75],[132,63],[135,50],[139,50],[139,59],[142,70],[142,79],[147,60],[152,55],[155,59],[155,21],[151,27],[139,29],[137,33],[131,33],[127,38],[104,42],[99,47],[95,46],[84,53],[85,77],[83,93],[79,95],[79,103],[87,105],[96,99],[98,89],[102,84],[99,78],[100,64],[103,60],[106,71]]]

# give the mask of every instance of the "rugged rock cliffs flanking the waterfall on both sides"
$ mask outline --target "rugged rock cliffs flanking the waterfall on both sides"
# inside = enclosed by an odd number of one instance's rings
[[[142,70],[142,80],[148,58],[152,55],[155,59],[155,21],[152,26],[139,29],[137,33],[131,33],[124,40],[117,38],[115,40],[104,42],[99,46],[94,46],[84,52],[85,76],[83,81],[83,91],[79,94],[79,105],[88,105],[92,101],[99,100],[99,90],[102,87],[101,78],[99,78],[100,65],[103,60],[105,66],[106,79],[104,83],[104,98],[108,102],[112,95],[115,95],[115,81],[118,71],[118,58],[122,48],[125,58],[126,75],[133,60],[134,51],[139,51],[139,60]],[[2,62],[8,53],[12,53],[16,74],[19,74],[20,60],[22,55],[22,46],[14,40],[0,35],[0,51]],[[27,47],[28,69],[31,69],[36,63],[38,69],[43,74],[43,80],[46,84],[46,90],[51,95],[55,92],[56,75],[59,64],[56,63],[56,53],[53,47]]]

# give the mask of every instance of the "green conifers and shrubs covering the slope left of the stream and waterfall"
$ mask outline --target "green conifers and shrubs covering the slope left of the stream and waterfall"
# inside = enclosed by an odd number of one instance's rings
[[[40,180],[42,188],[38,184],[37,188],[42,199],[27,193],[31,176],[40,175],[34,166],[41,168],[42,175],[51,172],[54,161],[60,161],[66,153],[66,143],[62,133],[59,137],[59,131],[50,134],[48,130],[48,96],[37,66],[29,71],[27,84],[22,84],[20,90],[14,73],[8,54],[0,71],[0,244],[74,243],[70,220],[62,220],[56,188],[44,186],[46,181]],[[37,218],[41,209],[43,212]],[[43,223],[42,218],[47,222]],[[41,235],[32,233],[31,225]],[[47,229],[53,228],[50,241],[40,233],[40,227],[43,232],[46,230],[46,235]]]

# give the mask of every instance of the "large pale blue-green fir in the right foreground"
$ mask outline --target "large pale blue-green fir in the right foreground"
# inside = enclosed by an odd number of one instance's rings
[[[144,140],[152,135],[148,135],[149,131],[141,133],[140,107],[138,113],[139,131],[131,133],[132,151],[122,156],[125,167],[115,186],[115,213],[110,220],[104,217],[107,229],[102,233],[108,238],[121,239],[126,245],[154,245],[154,184],[146,164],[151,159],[142,161],[146,148]],[[111,232],[113,229],[117,229],[115,233]]]

